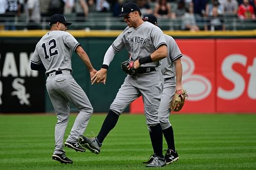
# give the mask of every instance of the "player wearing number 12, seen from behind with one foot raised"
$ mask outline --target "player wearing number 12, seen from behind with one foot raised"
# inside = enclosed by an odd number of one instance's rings
[[[72,51],[76,52],[86,64],[90,71],[91,78],[97,72],[79,42],[70,33],[66,32],[67,26],[69,25],[71,25],[71,23],[66,21],[65,16],[60,14],[51,16],[51,30],[36,44],[31,59],[31,69],[46,69],[46,87],[57,115],[55,149],[52,159],[66,164],[73,163],[73,161],[65,155],[65,151],[63,150],[63,137],[70,114],[69,102],[77,107],[79,113],[68,139],[65,142],[65,147],[80,152],[86,151],[79,146],[77,138],[86,130],[89,119],[93,113],[92,105],[86,93],[71,75]]]

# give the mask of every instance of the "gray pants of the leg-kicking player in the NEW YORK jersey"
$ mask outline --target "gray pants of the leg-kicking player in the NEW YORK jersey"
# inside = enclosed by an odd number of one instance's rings
[[[128,75],[111,104],[110,110],[120,115],[129,104],[142,95],[147,126],[159,124],[158,108],[162,90],[163,76],[160,70],[136,76]]]

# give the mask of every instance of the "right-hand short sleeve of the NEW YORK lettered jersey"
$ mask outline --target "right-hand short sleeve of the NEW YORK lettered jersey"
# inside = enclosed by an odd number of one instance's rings
[[[164,34],[159,27],[153,28],[151,37],[152,37],[153,44],[156,49],[159,48],[159,46],[161,46],[161,45],[167,46],[166,40],[164,38]]]

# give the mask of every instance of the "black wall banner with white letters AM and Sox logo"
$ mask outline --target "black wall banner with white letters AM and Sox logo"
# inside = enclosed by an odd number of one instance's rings
[[[36,42],[8,40],[0,48],[0,113],[44,112],[44,72],[32,71]]]

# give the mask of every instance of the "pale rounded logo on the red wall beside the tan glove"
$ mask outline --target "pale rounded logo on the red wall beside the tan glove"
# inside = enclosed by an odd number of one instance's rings
[[[187,100],[200,101],[207,98],[212,89],[210,81],[202,75],[193,74],[195,63],[190,57],[183,55],[181,61],[183,68],[182,84],[189,96]]]

